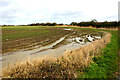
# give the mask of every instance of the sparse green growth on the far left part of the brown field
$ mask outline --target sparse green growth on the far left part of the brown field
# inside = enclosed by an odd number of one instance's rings
[[[40,34],[48,34],[45,27],[38,26],[16,26],[2,28],[2,41],[6,39],[15,40],[20,38],[35,37]]]

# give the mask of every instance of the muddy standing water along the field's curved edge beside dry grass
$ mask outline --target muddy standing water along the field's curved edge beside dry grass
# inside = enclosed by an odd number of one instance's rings
[[[64,30],[72,30],[72,29],[64,29]],[[60,38],[59,40],[53,42],[52,44],[36,48],[33,50],[20,50],[18,52],[12,52],[10,55],[3,55],[2,67],[8,66],[9,64],[15,64],[16,62],[25,61],[28,58],[30,60],[35,58],[43,58],[43,57],[58,57],[62,56],[67,50],[77,49],[80,46],[89,45],[94,40],[100,39],[102,36],[100,35],[88,35],[88,34],[80,34],[76,35],[76,32],[72,34],[68,34]],[[36,46],[35,46],[36,47]]]

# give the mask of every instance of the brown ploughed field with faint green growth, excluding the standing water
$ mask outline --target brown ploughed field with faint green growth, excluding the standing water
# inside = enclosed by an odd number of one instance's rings
[[[102,35],[92,30],[72,29],[64,27],[16,26],[2,28],[2,53],[15,52],[19,49],[33,49],[50,44],[61,37],[72,34],[80,37],[86,34]]]

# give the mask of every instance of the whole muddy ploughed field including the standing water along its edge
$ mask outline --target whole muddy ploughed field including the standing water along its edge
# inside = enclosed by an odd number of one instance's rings
[[[30,58],[59,57],[101,39],[103,32],[69,27],[4,27],[2,66]]]

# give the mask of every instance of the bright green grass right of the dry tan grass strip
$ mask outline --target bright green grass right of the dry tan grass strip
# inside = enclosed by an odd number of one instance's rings
[[[116,78],[118,72],[118,31],[108,31],[112,34],[111,42],[103,49],[101,56],[94,57],[93,63],[79,78]]]

